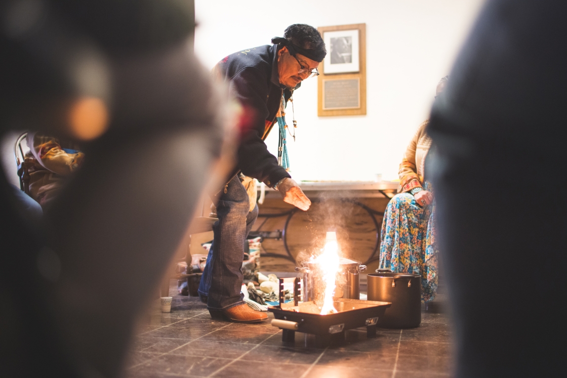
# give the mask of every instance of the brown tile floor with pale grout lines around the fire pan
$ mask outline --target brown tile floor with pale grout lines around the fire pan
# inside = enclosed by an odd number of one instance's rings
[[[451,373],[448,317],[422,312],[420,327],[346,332],[342,345],[314,347],[312,335],[281,341],[269,322],[236,324],[211,320],[197,298],[173,294],[171,313],[154,309],[139,329],[128,378],[145,377],[447,377]],[[273,315],[269,313],[270,318]]]

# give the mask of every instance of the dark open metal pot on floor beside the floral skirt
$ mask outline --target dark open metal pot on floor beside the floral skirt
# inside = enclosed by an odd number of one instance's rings
[[[376,269],[367,276],[368,300],[391,302],[378,319],[382,328],[414,328],[421,323],[421,275]]]

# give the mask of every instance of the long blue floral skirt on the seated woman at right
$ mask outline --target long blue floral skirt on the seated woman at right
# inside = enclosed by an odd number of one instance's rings
[[[435,299],[437,246],[433,213],[435,203],[418,206],[409,193],[394,196],[384,213],[380,269],[421,275],[421,301]]]

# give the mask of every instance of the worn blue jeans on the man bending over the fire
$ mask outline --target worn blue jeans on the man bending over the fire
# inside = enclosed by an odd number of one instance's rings
[[[208,297],[208,308],[226,309],[245,303],[240,294],[243,281],[240,268],[244,242],[258,216],[258,206],[250,211],[248,193],[238,176],[230,180],[227,192],[222,193],[217,215],[199,294]]]

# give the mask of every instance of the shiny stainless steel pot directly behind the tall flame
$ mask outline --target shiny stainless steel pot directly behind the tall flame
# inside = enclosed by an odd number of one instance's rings
[[[337,274],[337,287],[335,298],[360,299],[360,273],[366,270],[366,265],[348,258],[340,258],[340,270]],[[305,261],[302,267],[295,271],[303,273],[303,301],[322,302],[324,284],[321,282],[322,273],[319,265],[312,261]]]

